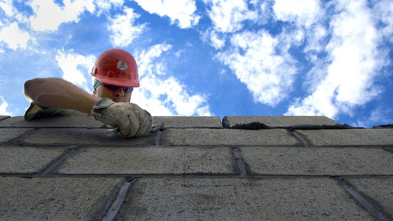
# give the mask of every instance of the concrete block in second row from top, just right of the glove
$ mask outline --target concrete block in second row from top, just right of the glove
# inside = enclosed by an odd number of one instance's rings
[[[167,129],[162,136],[162,145],[257,145],[280,146],[301,145],[284,129],[237,130],[237,129]]]

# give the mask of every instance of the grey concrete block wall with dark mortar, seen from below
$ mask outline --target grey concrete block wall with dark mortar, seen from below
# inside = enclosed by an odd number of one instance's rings
[[[336,124],[228,116],[226,125]],[[107,138],[92,117],[0,116],[0,220],[393,220],[393,129],[237,130],[219,117]]]

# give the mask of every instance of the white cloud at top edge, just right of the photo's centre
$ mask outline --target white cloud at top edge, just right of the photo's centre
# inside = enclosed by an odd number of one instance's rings
[[[235,32],[243,28],[244,20],[258,21],[258,10],[248,9],[243,0],[204,0],[211,8],[210,19],[217,31]]]

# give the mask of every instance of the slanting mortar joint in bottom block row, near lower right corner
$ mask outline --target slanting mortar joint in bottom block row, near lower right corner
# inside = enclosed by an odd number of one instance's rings
[[[338,182],[343,186],[343,188],[362,206],[364,206],[376,219],[380,221],[388,221],[386,216],[378,210],[378,208],[367,201],[356,189],[345,179],[338,179]]]

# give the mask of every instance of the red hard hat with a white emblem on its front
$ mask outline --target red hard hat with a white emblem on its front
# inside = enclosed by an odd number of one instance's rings
[[[138,67],[134,57],[118,48],[101,53],[95,61],[91,75],[104,84],[139,87]]]

